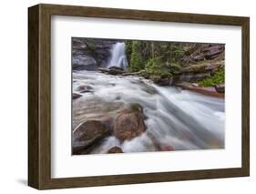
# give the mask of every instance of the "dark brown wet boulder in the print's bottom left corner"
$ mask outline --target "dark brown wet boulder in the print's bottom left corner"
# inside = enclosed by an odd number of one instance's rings
[[[108,135],[110,135],[109,128],[98,120],[81,123],[72,133],[72,154],[89,153]]]

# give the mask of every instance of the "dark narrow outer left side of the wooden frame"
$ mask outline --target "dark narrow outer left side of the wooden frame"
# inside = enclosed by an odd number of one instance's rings
[[[28,185],[39,189],[39,5],[28,9]]]

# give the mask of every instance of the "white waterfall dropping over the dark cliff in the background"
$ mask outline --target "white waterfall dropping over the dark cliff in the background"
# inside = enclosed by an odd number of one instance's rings
[[[108,67],[118,66],[123,68],[125,71],[128,70],[128,60],[126,56],[126,44],[117,43],[111,50],[111,58],[108,62]]]

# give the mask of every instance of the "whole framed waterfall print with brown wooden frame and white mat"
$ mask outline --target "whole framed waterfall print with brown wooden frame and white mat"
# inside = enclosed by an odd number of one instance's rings
[[[28,8],[28,185],[250,174],[249,17]]]

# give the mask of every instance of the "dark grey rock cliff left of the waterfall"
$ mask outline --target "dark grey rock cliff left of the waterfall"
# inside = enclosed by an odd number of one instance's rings
[[[73,37],[73,70],[97,70],[99,66],[107,66],[112,46],[117,42],[117,40]]]

